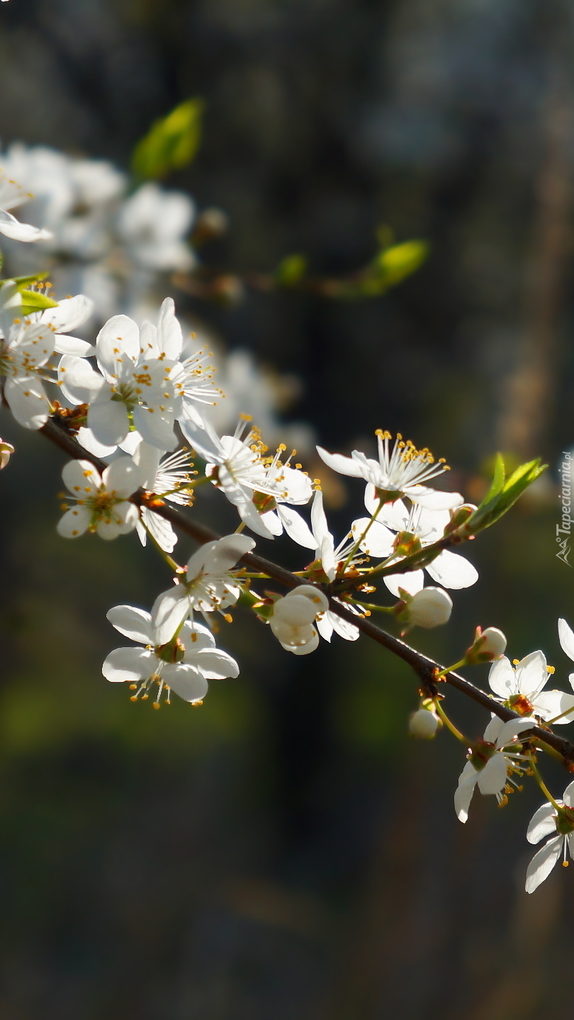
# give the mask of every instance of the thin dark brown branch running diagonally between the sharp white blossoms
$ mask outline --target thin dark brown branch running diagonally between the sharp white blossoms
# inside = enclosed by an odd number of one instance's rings
[[[66,429],[65,426],[60,425],[57,420],[49,419],[40,431],[49,439],[52,443],[58,446],[64,453],[72,457],[74,460],[88,460],[101,472],[108,465],[95,457],[93,454],[85,450],[77,440],[75,440]],[[144,503],[144,491],[139,490],[132,497],[132,502],[137,506],[142,506]],[[180,510],[176,510],[174,507],[167,505],[159,507],[151,507],[154,513],[157,513],[160,517],[168,520],[170,524],[174,524],[180,531],[184,531],[191,539],[194,539],[200,545],[206,542],[213,542],[218,539],[219,536],[211,528],[206,527],[204,524],[199,524],[198,522],[192,520],[186,514],[181,513]],[[257,573],[266,574],[271,580],[277,581],[279,584],[285,588],[297,588],[299,584],[307,584],[309,581],[306,578],[298,577],[296,574],[291,573],[290,570],[285,570],[283,567],[277,566],[275,563],[271,563],[270,560],[265,559],[263,556],[258,556],[255,553],[247,553],[242,557],[240,561],[244,566],[249,567]],[[393,634],[386,632],[381,627],[377,626],[376,623],[372,623],[370,619],[364,616],[359,616],[353,613],[350,609],[347,609],[343,603],[332,596],[329,598],[330,610],[341,616],[342,619],[346,620],[348,623],[352,623],[354,626],[371,638],[378,645],[381,645],[393,655],[396,655],[403,662],[406,662],[411,669],[417,674],[421,686],[433,695],[436,692],[436,673],[440,672],[442,667],[434,662],[433,659],[429,659],[428,656],[423,655],[421,652],[417,652],[416,649],[411,648],[405,642],[401,641],[399,638],[395,638]],[[504,705],[500,705],[497,701],[490,698],[484,691],[480,687],[471,683],[470,680],[466,680],[464,676],[460,676],[459,673],[447,673],[443,677],[443,681],[452,687],[456,687],[462,694],[466,695],[467,698],[472,699],[482,708],[485,708],[488,712],[492,712],[498,715],[500,719],[507,722],[510,719],[517,719],[520,716],[513,712],[512,709],[506,708]],[[542,728],[541,726],[533,725],[531,729],[528,730],[532,738],[540,741],[547,747],[552,748],[557,752],[567,763],[574,763],[574,746],[570,744],[569,741],[565,740],[563,736],[558,736],[550,730]]]

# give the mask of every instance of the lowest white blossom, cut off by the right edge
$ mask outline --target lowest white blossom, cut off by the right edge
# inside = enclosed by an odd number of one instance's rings
[[[574,860],[574,782],[564,790],[562,801],[554,804],[546,801],[534,812],[526,838],[528,843],[539,843],[545,835],[552,835],[544,846],[534,854],[526,871],[526,891],[533,892],[544,878],[547,878],[555,864],[562,857],[564,867],[568,867],[567,854]]]

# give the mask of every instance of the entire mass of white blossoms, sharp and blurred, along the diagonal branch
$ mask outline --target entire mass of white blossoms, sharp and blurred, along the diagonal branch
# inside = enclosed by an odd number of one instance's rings
[[[24,203],[31,223],[9,211]],[[446,729],[468,748],[455,793],[461,822],[475,790],[504,806],[526,776],[538,782],[546,801],[527,838],[549,838],[528,867],[526,888],[533,891],[561,856],[565,865],[568,854],[574,857],[574,783],[554,798],[537,766],[550,745],[573,768],[571,745],[553,726],[572,721],[574,695],[544,690],[553,670],[541,651],[511,663],[498,627],[477,627],[460,661],[440,668],[369,617],[387,614],[401,638],[414,627],[446,624],[454,608],[450,593],[478,579],[459,547],[506,513],[543,468],[533,461],[507,479],[499,458],[492,487],[475,507],[460,493],[435,488],[449,470],[443,458],[400,434],[394,439],[378,429],[376,448],[351,456],[317,447],[327,468],[364,487],[357,496],[367,514],[335,540],[321,479],[309,476],[285,442],[269,451],[261,422],[237,403],[240,392],[257,389],[251,367],[243,363],[244,390],[236,387],[231,424],[228,413],[220,413],[223,393],[212,356],[194,335],[185,338],[173,300],[166,297],[143,320],[135,311],[159,273],[194,265],[187,240],[193,217],[188,196],[155,184],[127,194],[125,177],[109,164],[49,149],[13,146],[0,171],[0,234],[11,268],[0,280],[0,390],[20,425],[56,435],[72,454],[62,471],[67,492],[57,530],[64,539],[89,533],[106,541],[136,530],[172,576],[150,612],[110,609],[108,620],[134,645],[107,656],[104,677],[126,682],[134,702],[153,693],[155,708],[169,704],[171,692],[201,704],[210,679],[239,675],[214,636],[221,619],[232,621],[229,609],[238,603],[297,656],[313,653],[320,638],[354,642],[361,631],[370,633],[417,672],[421,703],[410,717],[411,735],[432,740]],[[52,285],[36,272],[31,242],[43,246],[56,288],[73,280],[80,286],[65,290],[82,293],[54,300]],[[17,275],[31,268],[32,276]],[[95,308],[101,327],[91,344],[73,334]],[[265,392],[258,399],[269,424]],[[0,468],[13,453],[0,440]],[[195,512],[205,494],[225,501],[223,512],[233,523],[223,538],[179,516],[178,507]],[[182,522],[201,543],[185,564],[174,558],[174,524]],[[258,540],[293,543],[299,569],[290,573],[256,554],[256,539],[246,530]],[[281,592],[268,591],[269,581]],[[574,632],[565,620],[559,636],[574,661]],[[491,664],[490,696],[456,672],[484,663]],[[574,688],[574,673],[569,679]],[[472,692],[490,711],[480,738],[467,740],[447,715],[447,682]]]

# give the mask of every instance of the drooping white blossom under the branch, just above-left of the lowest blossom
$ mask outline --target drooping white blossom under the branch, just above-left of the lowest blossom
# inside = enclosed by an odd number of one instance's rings
[[[481,794],[493,795],[499,804],[506,803],[506,795],[516,786],[512,775],[525,770],[522,762],[526,757],[517,753],[516,749],[520,748],[517,737],[531,727],[532,722],[528,719],[510,719],[509,722],[503,722],[498,716],[490,719],[482,741],[469,752],[469,760],[459,777],[455,793],[459,821],[466,822],[468,818],[475,786]]]

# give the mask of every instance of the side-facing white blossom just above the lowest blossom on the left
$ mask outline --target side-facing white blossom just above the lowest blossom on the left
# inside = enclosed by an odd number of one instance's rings
[[[186,617],[193,619],[195,611],[205,616],[238,601],[242,586],[231,571],[254,546],[247,534],[226,534],[200,546],[188,560],[185,579],[180,576],[174,588],[158,595],[152,607],[159,644],[170,641]]]

